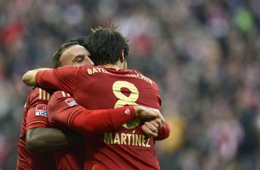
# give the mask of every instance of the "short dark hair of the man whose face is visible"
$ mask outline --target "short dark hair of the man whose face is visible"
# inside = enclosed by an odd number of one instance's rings
[[[53,68],[62,67],[59,58],[60,58],[60,56],[62,55],[62,53],[63,53],[67,48],[69,48],[70,46],[73,46],[73,45],[79,45],[79,43],[76,42],[76,41],[64,43],[64,44],[62,44],[61,47],[54,53],[53,58],[52,58],[52,66],[53,66]]]

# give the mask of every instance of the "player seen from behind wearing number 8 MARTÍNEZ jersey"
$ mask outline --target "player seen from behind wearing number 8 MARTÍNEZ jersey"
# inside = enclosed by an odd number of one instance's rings
[[[114,28],[95,30],[88,37],[86,47],[92,59],[101,66],[32,70],[23,76],[23,81],[28,86],[66,91],[88,109],[141,104],[160,110],[155,82],[136,70],[126,69],[125,43],[126,39]],[[159,169],[154,143],[169,136],[167,124],[158,130],[159,138],[147,139],[140,119],[123,124],[112,132],[88,136],[84,115],[74,112],[62,118],[55,114],[50,119],[85,134],[85,169]]]

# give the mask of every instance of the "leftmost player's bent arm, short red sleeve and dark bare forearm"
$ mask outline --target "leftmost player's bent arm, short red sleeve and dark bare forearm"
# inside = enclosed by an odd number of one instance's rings
[[[47,104],[50,95],[46,91],[35,88],[30,95],[31,100],[26,103],[29,107],[26,116],[26,146],[29,150],[60,149],[82,142],[79,134],[72,135],[69,131],[47,128]]]

